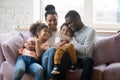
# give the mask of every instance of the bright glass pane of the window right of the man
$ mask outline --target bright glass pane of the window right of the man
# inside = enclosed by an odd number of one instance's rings
[[[119,5],[118,0],[93,0],[93,22],[119,24]]]

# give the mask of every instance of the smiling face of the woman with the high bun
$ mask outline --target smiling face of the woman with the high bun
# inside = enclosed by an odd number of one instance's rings
[[[48,14],[45,20],[51,31],[57,31],[58,16],[56,14]]]

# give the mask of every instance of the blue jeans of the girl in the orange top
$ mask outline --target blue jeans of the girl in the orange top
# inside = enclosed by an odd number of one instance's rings
[[[19,56],[15,65],[13,80],[21,80],[26,72],[35,75],[35,80],[44,80],[43,68],[39,61],[29,56]]]

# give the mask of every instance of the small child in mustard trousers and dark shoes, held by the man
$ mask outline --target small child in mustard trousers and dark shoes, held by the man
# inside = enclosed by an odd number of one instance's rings
[[[52,74],[60,74],[59,71],[59,66],[61,64],[61,58],[64,53],[68,53],[70,55],[71,59],[71,67],[70,67],[70,72],[73,72],[75,70],[75,65],[77,63],[76,60],[76,51],[74,49],[74,46],[69,43],[68,40],[64,39],[64,36],[73,36],[73,32],[71,29],[68,27],[66,23],[64,23],[61,28],[60,28],[60,37],[56,38],[56,52],[54,55],[54,68],[52,70]]]

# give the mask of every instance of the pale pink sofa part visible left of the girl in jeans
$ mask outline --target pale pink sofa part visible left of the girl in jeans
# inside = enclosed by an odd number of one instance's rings
[[[0,80],[12,80],[17,49],[23,46],[29,36],[19,32],[0,34]],[[34,76],[25,74],[22,80],[34,80]]]

